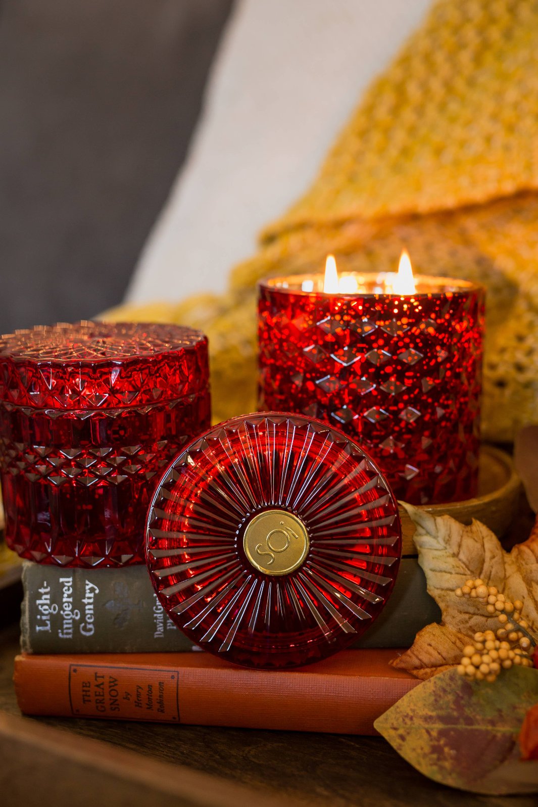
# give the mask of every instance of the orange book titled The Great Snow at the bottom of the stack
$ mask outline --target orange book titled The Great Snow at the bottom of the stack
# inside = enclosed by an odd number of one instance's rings
[[[25,714],[375,734],[373,721],[419,681],[397,650],[344,650],[290,671],[246,670],[206,653],[19,655]]]

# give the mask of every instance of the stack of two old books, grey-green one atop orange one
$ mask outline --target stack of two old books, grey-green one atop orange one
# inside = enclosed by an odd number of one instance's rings
[[[144,566],[58,568],[25,562],[23,713],[372,734],[373,721],[419,682],[390,667],[437,621],[414,557],[361,642],[290,671],[247,670],[193,646],[166,616]]]

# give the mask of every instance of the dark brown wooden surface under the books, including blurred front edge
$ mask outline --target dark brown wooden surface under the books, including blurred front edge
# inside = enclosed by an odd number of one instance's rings
[[[18,638],[16,624],[0,632],[2,807],[142,807],[160,799],[167,807],[536,807],[536,797],[479,797],[435,784],[382,738],[15,717]]]

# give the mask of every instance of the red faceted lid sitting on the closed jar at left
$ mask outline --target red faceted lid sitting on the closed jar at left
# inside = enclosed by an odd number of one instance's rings
[[[44,409],[145,406],[208,385],[206,337],[172,324],[78,322],[0,337],[0,400]]]

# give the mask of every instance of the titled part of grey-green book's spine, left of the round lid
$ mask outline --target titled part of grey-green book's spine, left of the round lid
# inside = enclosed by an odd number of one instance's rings
[[[193,649],[166,616],[145,566],[63,569],[25,562],[25,653],[144,653]]]

